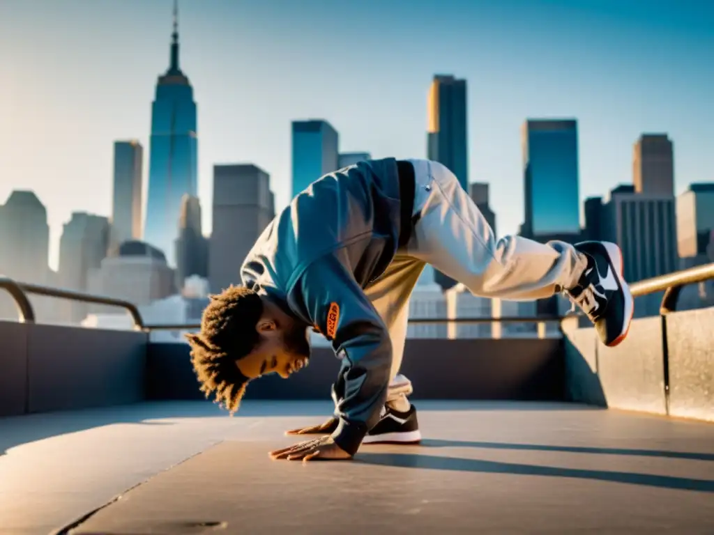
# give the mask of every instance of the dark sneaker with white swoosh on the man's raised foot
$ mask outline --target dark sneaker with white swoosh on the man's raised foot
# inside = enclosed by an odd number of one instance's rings
[[[615,347],[625,340],[635,312],[635,302],[623,277],[623,255],[609,242],[583,242],[575,245],[588,259],[578,285],[565,290],[595,324],[600,340]]]

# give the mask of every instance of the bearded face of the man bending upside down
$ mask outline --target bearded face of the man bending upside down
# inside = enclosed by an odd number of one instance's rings
[[[261,320],[256,329],[261,341],[249,355],[236,362],[243,375],[255,379],[263,374],[277,373],[287,379],[308,365],[310,342],[306,327],[281,328],[276,322]]]

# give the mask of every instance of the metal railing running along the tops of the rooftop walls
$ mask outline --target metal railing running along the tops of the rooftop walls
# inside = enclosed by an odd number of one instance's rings
[[[714,279],[714,263],[690,267],[686,270],[675,271],[667,275],[660,275],[650,279],[634,282],[630,285],[630,290],[634,297],[641,297],[656,292],[664,291],[660,314],[666,315],[675,312],[677,299],[682,288],[686,285],[697,284],[706,280]],[[9,277],[0,275],[0,290],[6,290],[13,298],[20,322],[34,323],[36,321],[34,307],[28,299],[30,295],[43,295],[45,297],[56,297],[71,301],[93,303],[96,305],[107,305],[124,308],[131,315],[134,321],[135,330],[198,330],[201,325],[198,323],[187,324],[164,324],[146,325],[141,317],[139,308],[129,301],[114,299],[114,297],[104,297],[86,292],[76,292],[74,290],[64,290],[49,286],[17,282]],[[570,315],[566,316],[570,317]],[[516,316],[516,317],[459,317],[459,318],[409,318],[411,324],[441,324],[441,323],[462,323],[462,324],[484,324],[484,323],[537,323],[544,325],[545,322],[560,322],[563,317],[558,315],[540,316]],[[540,330],[540,327],[539,327]]]

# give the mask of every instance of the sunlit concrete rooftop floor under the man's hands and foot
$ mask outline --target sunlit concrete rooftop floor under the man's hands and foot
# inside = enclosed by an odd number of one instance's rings
[[[304,465],[268,451],[329,401],[247,401],[233,418],[161,402],[0,419],[0,534],[714,533],[713,424],[416,405],[421,446]]]

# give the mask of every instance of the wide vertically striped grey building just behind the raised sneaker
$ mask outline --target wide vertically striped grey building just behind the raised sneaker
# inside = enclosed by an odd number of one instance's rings
[[[625,280],[636,282],[677,269],[675,225],[672,196],[615,188],[603,205],[601,239],[620,246]]]

